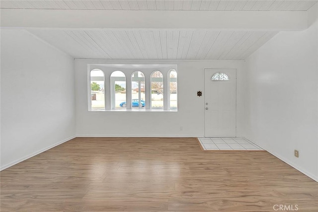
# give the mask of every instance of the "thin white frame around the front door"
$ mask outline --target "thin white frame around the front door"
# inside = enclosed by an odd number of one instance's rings
[[[218,70],[222,72],[222,70],[235,70],[235,138],[238,136],[238,69],[237,68],[204,68],[204,73],[203,73],[203,87],[204,87],[204,102],[203,102],[203,110],[204,110],[204,115],[203,115],[203,132],[204,132],[204,138],[205,137],[205,71],[206,69],[213,69],[217,73]]]

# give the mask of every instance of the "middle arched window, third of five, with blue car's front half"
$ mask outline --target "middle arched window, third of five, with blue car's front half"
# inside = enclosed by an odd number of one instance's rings
[[[133,108],[145,108],[146,87],[145,75],[141,71],[135,71],[131,75],[131,106]]]

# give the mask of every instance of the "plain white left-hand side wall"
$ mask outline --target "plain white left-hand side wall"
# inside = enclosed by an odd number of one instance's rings
[[[75,136],[74,59],[1,29],[1,169]]]

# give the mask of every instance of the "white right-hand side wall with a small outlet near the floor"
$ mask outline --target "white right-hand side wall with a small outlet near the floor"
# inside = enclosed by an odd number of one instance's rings
[[[280,32],[248,57],[245,110],[248,139],[316,180],[317,11],[317,5],[309,11],[316,20],[309,29]]]

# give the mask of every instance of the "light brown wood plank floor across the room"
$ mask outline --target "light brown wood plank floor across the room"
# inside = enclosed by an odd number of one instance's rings
[[[76,138],[0,172],[6,211],[318,211],[318,183],[267,152],[195,138]]]

